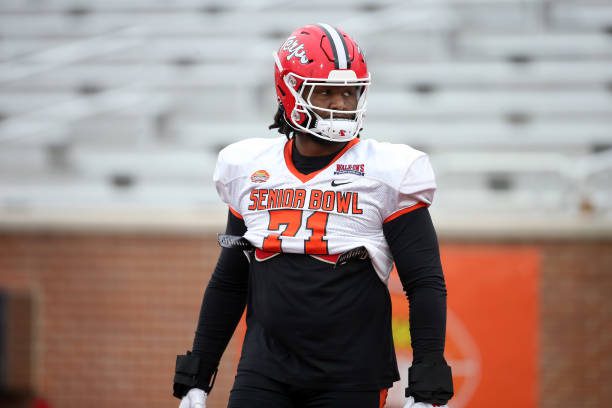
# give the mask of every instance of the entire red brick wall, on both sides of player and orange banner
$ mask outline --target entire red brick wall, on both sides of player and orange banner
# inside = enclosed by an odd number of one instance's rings
[[[612,242],[530,244],[543,255],[540,405],[604,406]],[[217,255],[212,236],[0,234],[0,288],[34,299],[33,387],[54,407],[178,406],[175,355],[191,348]],[[213,408],[225,406],[235,351],[224,356]]]

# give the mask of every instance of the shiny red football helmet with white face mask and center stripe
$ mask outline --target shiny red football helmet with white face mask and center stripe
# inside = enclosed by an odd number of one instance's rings
[[[346,142],[359,134],[370,73],[363,52],[351,37],[323,23],[300,27],[274,53],[274,60],[276,95],[294,129],[335,142]],[[313,105],[310,99],[317,85],[356,87],[356,109]],[[329,117],[323,118],[317,111],[325,111]]]

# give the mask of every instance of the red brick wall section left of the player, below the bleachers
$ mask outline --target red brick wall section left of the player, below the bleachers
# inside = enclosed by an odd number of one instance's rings
[[[54,407],[175,405],[175,356],[191,348],[217,255],[193,236],[0,236],[0,287],[39,306],[36,389]],[[211,406],[232,376],[222,370]]]

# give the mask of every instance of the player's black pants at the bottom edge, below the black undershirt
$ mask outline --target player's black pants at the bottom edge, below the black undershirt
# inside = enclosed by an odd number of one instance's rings
[[[239,371],[228,408],[382,408],[387,390],[301,389],[250,371]]]

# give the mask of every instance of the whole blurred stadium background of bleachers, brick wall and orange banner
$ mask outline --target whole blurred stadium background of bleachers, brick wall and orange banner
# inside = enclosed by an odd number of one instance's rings
[[[611,0],[0,0],[0,406],[178,406],[216,155],[276,135],[272,51],[315,22],[365,50],[362,137],[431,156],[451,406],[612,399]]]

